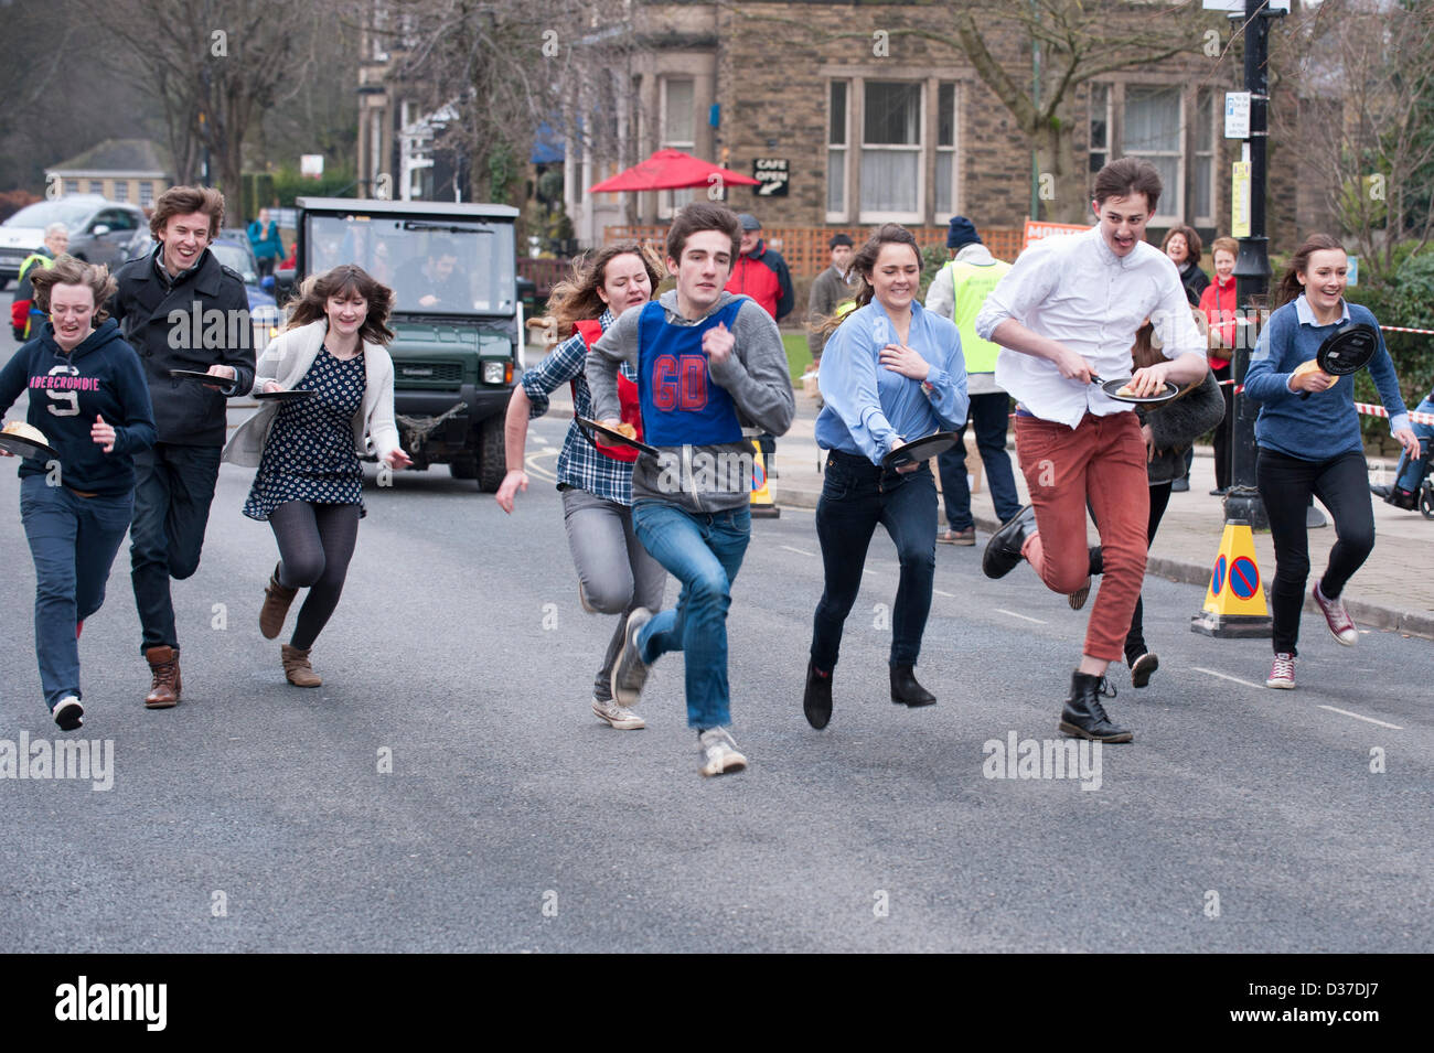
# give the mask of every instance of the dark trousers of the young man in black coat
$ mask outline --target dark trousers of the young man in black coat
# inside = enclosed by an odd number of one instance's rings
[[[184,580],[199,569],[221,453],[218,446],[156,443],[135,454],[129,564],[143,633],[141,653],[179,646],[169,579]]]

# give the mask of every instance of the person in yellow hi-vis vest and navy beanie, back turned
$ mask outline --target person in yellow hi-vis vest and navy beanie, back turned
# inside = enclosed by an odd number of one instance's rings
[[[981,463],[985,466],[995,517],[1005,523],[1021,510],[1011,458],[1005,453],[1011,400],[995,383],[995,355],[999,348],[977,335],[975,319],[987,294],[995,288],[1011,265],[991,255],[981,242],[977,228],[965,216],[951,218],[946,251],[951,254],[951,262],[931,279],[925,307],[954,321],[961,331],[961,352],[967,360],[967,391],[971,395],[971,423],[977,433],[977,450],[981,451]],[[967,428],[962,424],[962,440],[965,434]],[[936,540],[946,544],[975,544],[977,529],[971,517],[965,443],[958,443],[941,454],[936,466],[941,470],[941,494],[946,504],[946,532]]]

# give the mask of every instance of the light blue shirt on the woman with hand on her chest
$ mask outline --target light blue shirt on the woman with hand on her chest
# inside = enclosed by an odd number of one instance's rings
[[[896,327],[875,299],[846,315],[826,341],[817,372],[826,403],[816,418],[819,447],[880,464],[899,443],[965,424],[967,364],[951,319],[911,304],[906,347],[931,365],[925,385],[880,364],[880,350],[895,342]]]

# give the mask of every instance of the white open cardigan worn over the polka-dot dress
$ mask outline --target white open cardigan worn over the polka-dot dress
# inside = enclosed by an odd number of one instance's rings
[[[254,371],[254,391],[262,391],[267,381],[290,390],[300,381],[318,357],[328,332],[328,319],[320,318],[297,330],[277,335],[264,348]],[[399,428],[393,423],[393,360],[379,344],[363,345],[364,391],[363,403],[354,414],[354,448],[364,451],[364,434],[373,437],[379,458],[399,448]],[[278,414],[280,401],[267,401],[254,415],[239,424],[224,446],[224,460],[257,468],[268,441],[270,428]]]

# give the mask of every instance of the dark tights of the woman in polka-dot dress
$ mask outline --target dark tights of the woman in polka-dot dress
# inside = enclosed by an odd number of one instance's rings
[[[308,589],[290,646],[308,650],[338,606],[358,540],[357,504],[284,501],[270,513],[278,542],[278,583]]]

